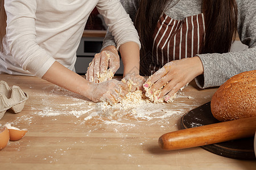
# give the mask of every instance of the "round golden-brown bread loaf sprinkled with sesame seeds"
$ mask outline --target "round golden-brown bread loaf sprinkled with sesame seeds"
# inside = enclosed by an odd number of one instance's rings
[[[218,88],[210,102],[219,121],[256,116],[256,70],[234,75]]]

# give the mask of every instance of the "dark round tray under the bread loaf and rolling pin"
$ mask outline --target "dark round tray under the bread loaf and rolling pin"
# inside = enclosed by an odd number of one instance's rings
[[[195,128],[209,124],[216,124],[216,120],[210,112],[210,102],[192,109],[181,117],[181,129]],[[255,160],[254,137],[237,139],[228,142],[215,143],[201,146],[207,151],[220,156],[233,159]]]

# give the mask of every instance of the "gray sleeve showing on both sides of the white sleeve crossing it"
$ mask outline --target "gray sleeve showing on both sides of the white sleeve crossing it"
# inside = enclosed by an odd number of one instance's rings
[[[135,14],[137,12],[138,9],[138,0],[121,0],[120,1],[123,8],[125,8],[125,11],[127,12],[127,14],[129,14],[131,22],[134,22],[134,18],[135,18]],[[106,46],[110,46],[110,45],[114,45],[117,46],[115,44],[115,40],[114,40],[114,36],[112,35],[112,31],[110,31],[110,28],[108,28],[108,31],[106,33],[106,36],[104,38],[103,41],[103,45],[102,45],[102,49],[106,48]]]

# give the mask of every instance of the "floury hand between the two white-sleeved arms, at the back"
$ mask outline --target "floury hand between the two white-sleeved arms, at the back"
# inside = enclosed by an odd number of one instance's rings
[[[120,59],[115,46],[107,46],[101,53],[95,54],[86,71],[86,80],[98,83],[98,75],[111,71],[113,75],[119,69]]]

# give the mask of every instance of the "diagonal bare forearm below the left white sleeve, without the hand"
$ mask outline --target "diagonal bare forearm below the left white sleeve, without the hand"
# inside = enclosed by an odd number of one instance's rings
[[[46,74],[43,75],[43,79],[63,87],[76,94],[83,95],[90,99],[90,82],[84,79],[82,76],[67,69],[59,62],[53,63]]]

